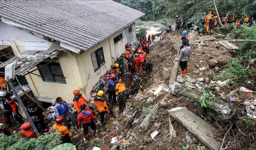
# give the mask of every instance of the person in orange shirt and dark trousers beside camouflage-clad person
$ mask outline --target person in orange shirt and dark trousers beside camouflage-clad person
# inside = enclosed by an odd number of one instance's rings
[[[122,82],[122,79],[118,79],[118,84],[116,84],[116,96],[118,96],[119,102],[118,113],[121,113],[124,105],[124,96],[129,99],[129,93],[126,89],[126,85]]]

